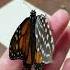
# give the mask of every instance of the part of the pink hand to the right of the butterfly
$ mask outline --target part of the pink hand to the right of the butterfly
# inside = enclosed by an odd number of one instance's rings
[[[65,10],[58,10],[51,16],[50,22],[53,30],[55,50],[53,63],[45,65],[44,70],[60,70],[70,48],[70,27],[67,26],[69,14]],[[70,70],[70,59],[66,60],[63,70]]]

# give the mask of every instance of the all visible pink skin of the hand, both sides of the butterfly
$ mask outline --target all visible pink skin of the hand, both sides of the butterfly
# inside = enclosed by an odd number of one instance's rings
[[[44,66],[44,70],[59,70],[65,56],[70,48],[70,27],[69,14],[60,9],[55,12],[50,19],[52,33],[54,37],[55,50],[53,53],[53,63]],[[23,62],[21,60],[10,60],[8,49],[0,59],[0,70],[22,70]],[[64,63],[62,70],[70,69],[70,59]]]

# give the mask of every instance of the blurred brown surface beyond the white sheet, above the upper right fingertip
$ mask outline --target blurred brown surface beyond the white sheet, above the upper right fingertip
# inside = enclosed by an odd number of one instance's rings
[[[64,8],[68,12],[70,12],[70,0],[27,0],[27,1],[49,14],[53,14],[56,10],[60,8]]]

